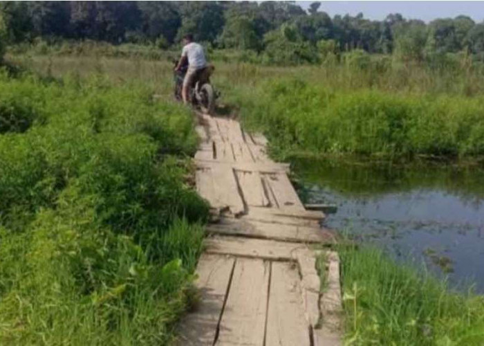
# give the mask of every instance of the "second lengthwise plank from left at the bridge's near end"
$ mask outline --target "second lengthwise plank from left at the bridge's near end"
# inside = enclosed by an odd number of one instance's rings
[[[238,258],[216,345],[263,345],[270,264]]]

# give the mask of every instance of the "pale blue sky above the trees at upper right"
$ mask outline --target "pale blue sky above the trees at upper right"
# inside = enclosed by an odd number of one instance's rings
[[[314,1],[296,1],[304,9]],[[320,1],[319,11],[334,15],[357,15],[382,20],[390,13],[400,13],[407,19],[429,22],[436,18],[467,15],[476,23],[484,21],[484,1]]]

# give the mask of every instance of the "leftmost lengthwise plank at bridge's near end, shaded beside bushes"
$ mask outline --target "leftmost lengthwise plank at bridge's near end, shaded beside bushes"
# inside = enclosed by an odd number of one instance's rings
[[[234,268],[234,258],[203,254],[198,261],[195,284],[201,293],[196,310],[180,322],[178,345],[214,344],[225,294]]]

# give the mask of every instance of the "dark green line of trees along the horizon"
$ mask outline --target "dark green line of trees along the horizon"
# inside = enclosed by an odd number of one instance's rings
[[[312,3],[254,1],[10,1],[0,3],[6,42],[92,39],[112,44],[157,44],[168,48],[185,33],[214,48],[252,50],[312,59],[315,50],[401,52],[422,60],[429,54],[466,51],[484,60],[484,22],[459,15],[424,21],[390,14],[382,21],[331,18]]]

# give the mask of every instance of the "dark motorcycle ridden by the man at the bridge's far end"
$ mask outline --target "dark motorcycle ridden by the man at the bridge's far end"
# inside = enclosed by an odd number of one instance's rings
[[[174,60],[175,66],[178,65],[178,61]],[[182,101],[182,87],[183,80],[187,73],[188,64],[182,66],[179,70],[174,71],[175,82],[175,98],[178,101]],[[194,107],[199,107],[203,113],[213,114],[215,111],[215,100],[218,98],[218,93],[214,90],[212,84],[210,84],[210,75],[214,72],[214,66],[209,65],[203,69],[196,71],[194,82],[189,86],[188,99]]]

